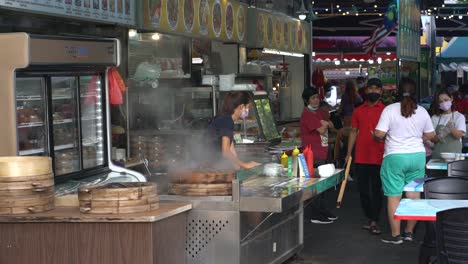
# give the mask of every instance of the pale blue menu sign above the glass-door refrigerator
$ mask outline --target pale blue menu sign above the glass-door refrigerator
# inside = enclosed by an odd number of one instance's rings
[[[88,21],[135,25],[135,0],[0,0],[0,7]]]

